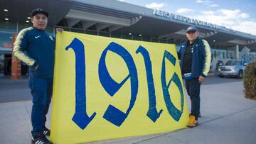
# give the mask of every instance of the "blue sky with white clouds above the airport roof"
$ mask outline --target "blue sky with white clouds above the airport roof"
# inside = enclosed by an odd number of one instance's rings
[[[256,0],[119,0],[256,35]]]

